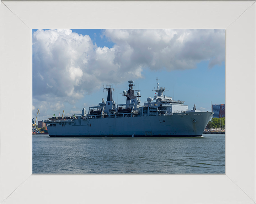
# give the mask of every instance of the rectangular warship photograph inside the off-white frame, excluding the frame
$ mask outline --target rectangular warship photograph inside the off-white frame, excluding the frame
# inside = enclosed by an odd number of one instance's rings
[[[225,174],[225,29],[32,39],[33,174]]]

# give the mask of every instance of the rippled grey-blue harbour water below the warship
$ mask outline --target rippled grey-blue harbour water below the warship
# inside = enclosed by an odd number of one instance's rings
[[[203,137],[33,135],[33,174],[224,174],[225,134]]]

